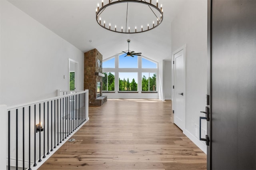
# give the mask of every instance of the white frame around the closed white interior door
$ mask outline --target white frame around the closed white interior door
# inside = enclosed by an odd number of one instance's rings
[[[172,62],[174,62],[174,55],[180,51],[183,50],[183,67],[184,67],[184,79],[183,79],[183,82],[184,82],[184,105],[185,105],[185,117],[184,117],[184,129],[182,129],[183,131],[186,129],[186,44],[183,45],[182,47],[178,48],[176,51],[174,51],[172,53]],[[172,104],[172,110],[174,111],[174,114],[175,114],[175,111],[176,111],[176,108],[175,108],[175,102],[176,102],[176,82],[175,82],[175,68],[174,68],[174,64],[172,64],[172,82],[173,82],[173,85],[174,85],[174,88],[172,89],[172,99],[173,99],[173,104]],[[173,116],[173,121],[174,121],[174,116]]]

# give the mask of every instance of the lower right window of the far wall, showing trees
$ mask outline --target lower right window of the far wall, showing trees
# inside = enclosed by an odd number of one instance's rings
[[[142,73],[142,91],[156,91],[156,73]]]

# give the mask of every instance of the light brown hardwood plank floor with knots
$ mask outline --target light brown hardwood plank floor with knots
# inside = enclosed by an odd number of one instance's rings
[[[206,154],[170,122],[171,101],[108,99],[39,170],[198,170]]]

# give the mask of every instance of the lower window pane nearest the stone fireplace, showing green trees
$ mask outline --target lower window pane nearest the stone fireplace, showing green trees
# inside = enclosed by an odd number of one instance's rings
[[[115,73],[104,73],[102,77],[102,91],[115,91]]]

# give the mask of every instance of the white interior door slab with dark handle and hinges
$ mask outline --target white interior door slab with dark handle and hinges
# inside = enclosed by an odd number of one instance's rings
[[[174,123],[185,129],[185,62],[184,49],[174,54]]]

